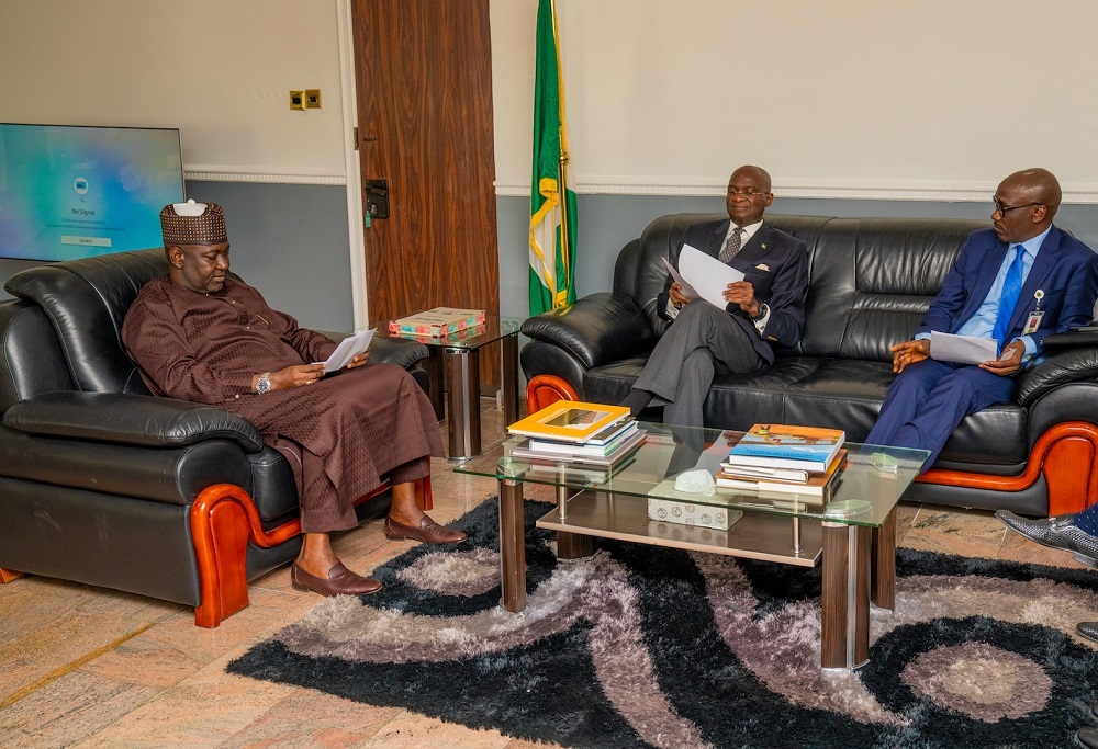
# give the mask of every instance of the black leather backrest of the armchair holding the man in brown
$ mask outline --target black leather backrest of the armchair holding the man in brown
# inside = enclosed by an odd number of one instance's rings
[[[4,288],[45,313],[76,389],[148,395],[120,331],[141,287],[167,272],[164,250],[117,252],[32,268]]]

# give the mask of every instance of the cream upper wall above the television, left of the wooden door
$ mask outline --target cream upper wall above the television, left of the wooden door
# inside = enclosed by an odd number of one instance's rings
[[[191,179],[346,181],[336,0],[3,0],[0,121],[178,127]],[[321,110],[291,112],[290,89]]]

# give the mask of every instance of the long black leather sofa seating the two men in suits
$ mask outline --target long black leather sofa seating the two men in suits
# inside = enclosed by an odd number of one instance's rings
[[[720,214],[652,222],[620,251],[614,291],[528,319],[522,352],[533,389],[556,376],[564,397],[618,402],[669,324],[656,313],[666,270],[688,224]],[[964,239],[987,222],[768,215],[809,253],[799,345],[773,368],[718,375],[706,424],[757,422],[869,434],[893,379],[888,347],[910,338]],[[1051,336],[1042,361],[1018,379],[1013,399],[967,417],[905,499],[1032,515],[1077,511],[1098,499],[1098,337]],[[645,415],[646,417],[649,413]],[[659,420],[659,412],[651,413]]]

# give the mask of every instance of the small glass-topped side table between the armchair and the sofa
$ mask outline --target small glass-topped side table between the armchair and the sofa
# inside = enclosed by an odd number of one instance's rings
[[[480,350],[501,342],[503,360],[503,407],[506,423],[518,421],[518,329],[523,318],[489,315],[482,325],[459,330],[449,336],[396,336],[418,341],[430,356],[423,368],[430,379],[430,404],[439,421],[447,416],[448,452],[450,459],[480,455]],[[381,326],[379,334],[383,333]],[[442,386],[446,364],[450,377]],[[447,391],[444,405],[442,391]]]

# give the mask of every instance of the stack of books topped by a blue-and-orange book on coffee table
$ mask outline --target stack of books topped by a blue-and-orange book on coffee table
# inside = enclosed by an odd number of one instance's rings
[[[845,439],[839,429],[755,424],[721,462],[717,486],[829,501],[847,457]]]

